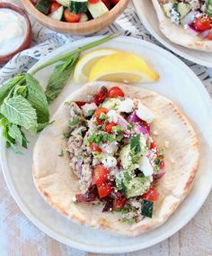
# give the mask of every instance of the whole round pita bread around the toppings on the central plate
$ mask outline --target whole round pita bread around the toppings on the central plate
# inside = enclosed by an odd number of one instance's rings
[[[197,136],[186,117],[164,96],[141,87],[132,87],[108,82],[94,82],[85,85],[66,98],[66,101],[83,101],[86,96],[97,92],[102,86],[119,86],[126,96],[140,98],[150,108],[155,119],[151,125],[155,142],[164,147],[166,174],[159,180],[157,191],[159,200],[155,203],[153,218],[144,218],[137,224],[119,222],[119,213],[102,213],[102,206],[73,202],[79,194],[78,179],[69,166],[68,153],[59,157],[61,149],[66,149],[63,133],[67,132],[70,118],[69,108],[60,105],[52,121],[36,142],[33,153],[33,178],[40,195],[78,224],[86,224],[107,232],[125,236],[135,236],[163,224],[188,195],[199,166],[199,144]]]

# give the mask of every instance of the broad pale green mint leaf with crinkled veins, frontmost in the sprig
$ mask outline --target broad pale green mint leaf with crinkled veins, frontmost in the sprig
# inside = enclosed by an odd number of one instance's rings
[[[32,134],[37,132],[38,123],[36,111],[22,96],[14,96],[13,98],[4,100],[0,112],[10,123],[24,127]]]

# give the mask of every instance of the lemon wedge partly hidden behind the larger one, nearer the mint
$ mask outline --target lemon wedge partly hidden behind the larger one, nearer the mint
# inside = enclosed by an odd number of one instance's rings
[[[78,60],[75,66],[74,72],[74,81],[75,83],[84,83],[88,81],[88,76],[90,69],[93,68],[93,65],[102,57],[105,57],[110,54],[119,52],[118,50],[112,49],[101,49],[93,50],[83,55],[81,59]]]

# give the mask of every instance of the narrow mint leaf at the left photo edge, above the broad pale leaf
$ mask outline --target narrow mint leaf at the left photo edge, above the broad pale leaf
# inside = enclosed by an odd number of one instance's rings
[[[21,83],[22,79],[25,77],[24,74],[18,75],[12,79],[10,79],[6,84],[0,87],[0,105],[3,104],[4,98],[9,95],[10,91],[13,89],[15,85]]]

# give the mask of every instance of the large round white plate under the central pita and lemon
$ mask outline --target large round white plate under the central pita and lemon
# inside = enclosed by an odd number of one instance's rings
[[[71,42],[40,60],[38,65],[62,52],[73,50],[97,38],[99,37]],[[64,216],[59,215],[40,197],[31,176],[31,155],[36,137],[29,137],[30,148],[24,151],[24,156],[5,150],[2,140],[0,145],[2,167],[7,185],[22,212],[49,236],[84,251],[101,253],[137,251],[161,242],[180,230],[199,211],[208,196],[212,184],[212,142],[210,139],[212,138],[212,105],[199,78],[180,59],[168,51],[152,43],[127,37],[116,38],[99,48],[105,47],[132,51],[146,59],[160,74],[160,79],[155,84],[142,85],[142,87],[153,89],[176,102],[190,118],[198,133],[201,152],[199,172],[190,195],[183,201],[176,213],[165,224],[151,232],[134,238],[114,237],[83,225],[73,224]],[[52,69],[51,67],[42,70],[36,75],[42,86],[47,83],[49,71]],[[50,106],[51,113],[69,93],[78,87],[69,81],[62,94]]]

